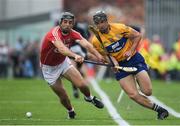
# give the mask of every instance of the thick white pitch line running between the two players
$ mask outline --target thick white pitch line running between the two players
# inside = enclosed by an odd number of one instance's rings
[[[126,122],[121,116],[120,114],[117,112],[116,108],[113,106],[113,104],[111,103],[111,101],[109,100],[108,96],[106,95],[106,93],[104,91],[101,90],[101,88],[99,87],[98,83],[96,82],[96,80],[94,78],[89,78],[88,79],[89,82],[92,84],[94,90],[99,94],[99,96],[101,97],[105,107],[107,108],[109,114],[111,115],[111,117],[113,118],[113,120],[118,124],[118,125],[122,125],[122,126],[129,126],[128,122]]]

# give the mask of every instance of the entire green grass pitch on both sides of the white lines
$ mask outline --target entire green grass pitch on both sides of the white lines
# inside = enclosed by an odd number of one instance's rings
[[[64,85],[77,113],[75,120],[67,119],[67,111],[45,81],[0,80],[0,125],[116,125],[106,109],[95,108],[82,95],[80,99],[73,98],[71,84],[65,81]],[[100,87],[130,125],[180,125],[180,119],[172,115],[163,121],[156,120],[154,111],[134,103],[127,95],[117,103],[121,88],[115,80],[101,81]],[[180,112],[179,82],[153,81],[153,95]],[[32,118],[25,116],[28,111],[32,112]]]

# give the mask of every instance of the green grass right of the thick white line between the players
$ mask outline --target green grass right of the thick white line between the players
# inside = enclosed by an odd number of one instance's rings
[[[166,120],[156,120],[156,113],[148,110],[134,101],[130,100],[125,94],[120,103],[117,98],[121,91],[117,81],[101,82],[102,89],[110,96],[111,101],[125,119],[131,125],[180,125],[180,119],[170,115]],[[111,89],[110,89],[111,87]],[[180,112],[180,83],[164,81],[153,81],[153,95],[163,103]]]

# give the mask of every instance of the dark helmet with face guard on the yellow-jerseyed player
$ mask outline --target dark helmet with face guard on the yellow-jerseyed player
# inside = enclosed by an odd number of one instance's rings
[[[94,24],[99,24],[102,21],[107,21],[107,15],[104,11],[96,12],[96,14],[93,16]]]

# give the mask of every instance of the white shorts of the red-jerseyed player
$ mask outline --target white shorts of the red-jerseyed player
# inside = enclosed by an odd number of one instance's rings
[[[57,79],[66,73],[68,69],[73,67],[71,61],[68,57],[59,65],[57,66],[49,66],[41,64],[41,69],[43,73],[43,77],[49,85],[53,85],[56,83]]]

